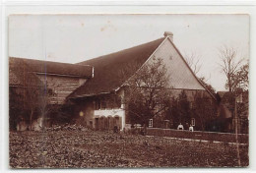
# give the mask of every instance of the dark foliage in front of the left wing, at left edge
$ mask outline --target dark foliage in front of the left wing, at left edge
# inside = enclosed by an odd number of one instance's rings
[[[47,87],[10,87],[10,129],[15,130],[16,125],[25,121],[32,129],[32,122],[37,118],[42,118],[42,128],[48,120],[61,117],[63,113],[59,112],[60,106],[50,104],[50,96],[53,94]]]

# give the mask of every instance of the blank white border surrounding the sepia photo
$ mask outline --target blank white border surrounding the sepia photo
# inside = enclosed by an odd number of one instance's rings
[[[23,1],[1,3],[1,172],[254,172],[255,164],[255,1]],[[11,14],[248,14],[250,16],[250,121],[248,168],[166,168],[166,169],[9,169],[8,129],[8,16]]]

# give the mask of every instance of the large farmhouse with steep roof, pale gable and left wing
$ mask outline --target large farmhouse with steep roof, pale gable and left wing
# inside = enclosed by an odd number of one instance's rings
[[[72,105],[77,124],[93,129],[124,130],[133,123],[125,102],[126,84],[142,67],[158,58],[166,67],[171,97],[177,98],[184,92],[190,102],[195,95],[215,100],[174,45],[171,32],[164,32],[164,37],[157,40],[78,64],[10,58],[9,86],[46,87],[52,93],[49,104]],[[181,123],[201,126],[198,117],[190,118],[189,122]],[[155,126],[152,119],[150,126]]]

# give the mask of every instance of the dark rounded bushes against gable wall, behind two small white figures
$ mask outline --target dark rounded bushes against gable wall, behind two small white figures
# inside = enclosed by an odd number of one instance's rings
[[[193,100],[188,100],[183,90],[177,98],[172,98],[166,112],[166,119],[172,122],[171,128],[176,129],[181,123],[187,129],[191,119],[196,120],[196,130],[205,131],[208,122],[217,116],[217,105],[212,97],[196,92]]]

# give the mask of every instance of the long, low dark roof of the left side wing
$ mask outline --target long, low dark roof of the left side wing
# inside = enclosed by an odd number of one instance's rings
[[[91,78],[93,75],[92,66],[84,66],[78,64],[59,63],[51,61],[40,61],[25,58],[10,57],[10,62],[16,66],[26,64],[30,68],[28,72],[35,74],[47,74],[58,76],[70,76],[79,78]]]

